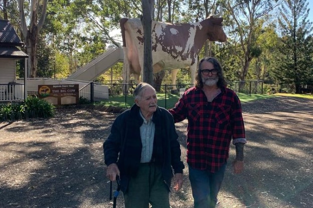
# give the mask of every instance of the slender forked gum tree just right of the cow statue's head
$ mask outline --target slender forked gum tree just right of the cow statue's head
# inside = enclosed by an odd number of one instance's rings
[[[260,56],[262,52],[257,44],[256,30],[264,15],[277,6],[275,2],[277,0],[227,0],[225,2],[230,14],[227,20],[228,38],[241,48],[239,53],[233,54],[237,56],[240,63],[239,80],[246,79],[251,60]]]

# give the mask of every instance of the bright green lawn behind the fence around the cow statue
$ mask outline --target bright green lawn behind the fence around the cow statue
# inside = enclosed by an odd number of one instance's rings
[[[251,94],[251,96],[249,96],[248,94],[244,94],[244,93],[237,93],[237,94],[242,103],[251,102],[253,100],[266,99],[266,98],[275,96],[275,95],[256,95],[256,94]],[[179,99],[179,94],[166,94],[165,95],[164,93],[157,93],[157,96],[158,96],[158,105],[166,109],[170,109],[174,107],[175,103]],[[165,99],[165,96],[166,96],[166,99]],[[110,96],[109,100],[95,103],[95,105],[127,107],[127,108],[131,107],[133,104],[134,104],[134,97],[132,95],[126,95],[126,97],[125,95],[114,95],[114,96]]]

